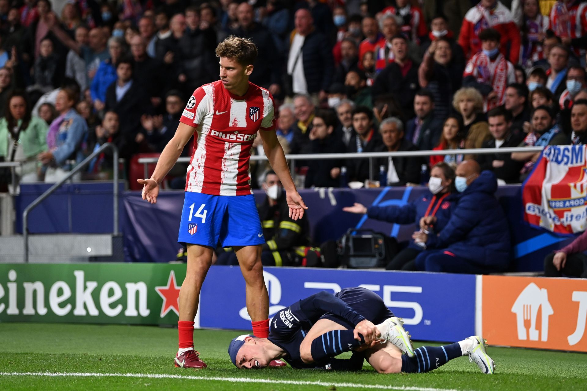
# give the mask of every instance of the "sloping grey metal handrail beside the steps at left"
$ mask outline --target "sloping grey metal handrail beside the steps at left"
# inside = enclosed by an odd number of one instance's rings
[[[96,149],[96,151],[92,152],[91,155],[89,155],[87,158],[83,159],[82,162],[80,162],[80,164],[76,165],[72,171],[69,172],[68,175],[65,176],[65,178],[60,179],[60,181],[56,182],[53,186],[51,186],[49,189],[47,189],[46,192],[44,192],[42,195],[38,196],[37,199],[35,199],[33,202],[31,202],[31,204],[29,204],[24,212],[22,212],[22,239],[24,242],[24,246],[25,246],[25,263],[28,263],[29,261],[29,225],[28,225],[28,216],[29,216],[29,212],[31,212],[32,209],[36,208],[36,206],[39,205],[39,203],[43,202],[43,200],[45,200],[46,198],[48,198],[53,192],[55,192],[61,185],[63,185],[63,183],[65,183],[66,181],[68,181],[73,175],[77,174],[77,172],[81,171],[87,164],[89,164],[90,161],[92,161],[93,158],[95,158],[97,155],[99,155],[100,153],[102,153],[104,150],[112,148],[112,152],[113,152],[113,196],[114,196],[114,227],[113,227],[113,234],[117,235],[118,234],[118,148],[116,148],[116,145],[107,142],[106,144],[103,144],[102,146],[100,146],[100,148]]]

